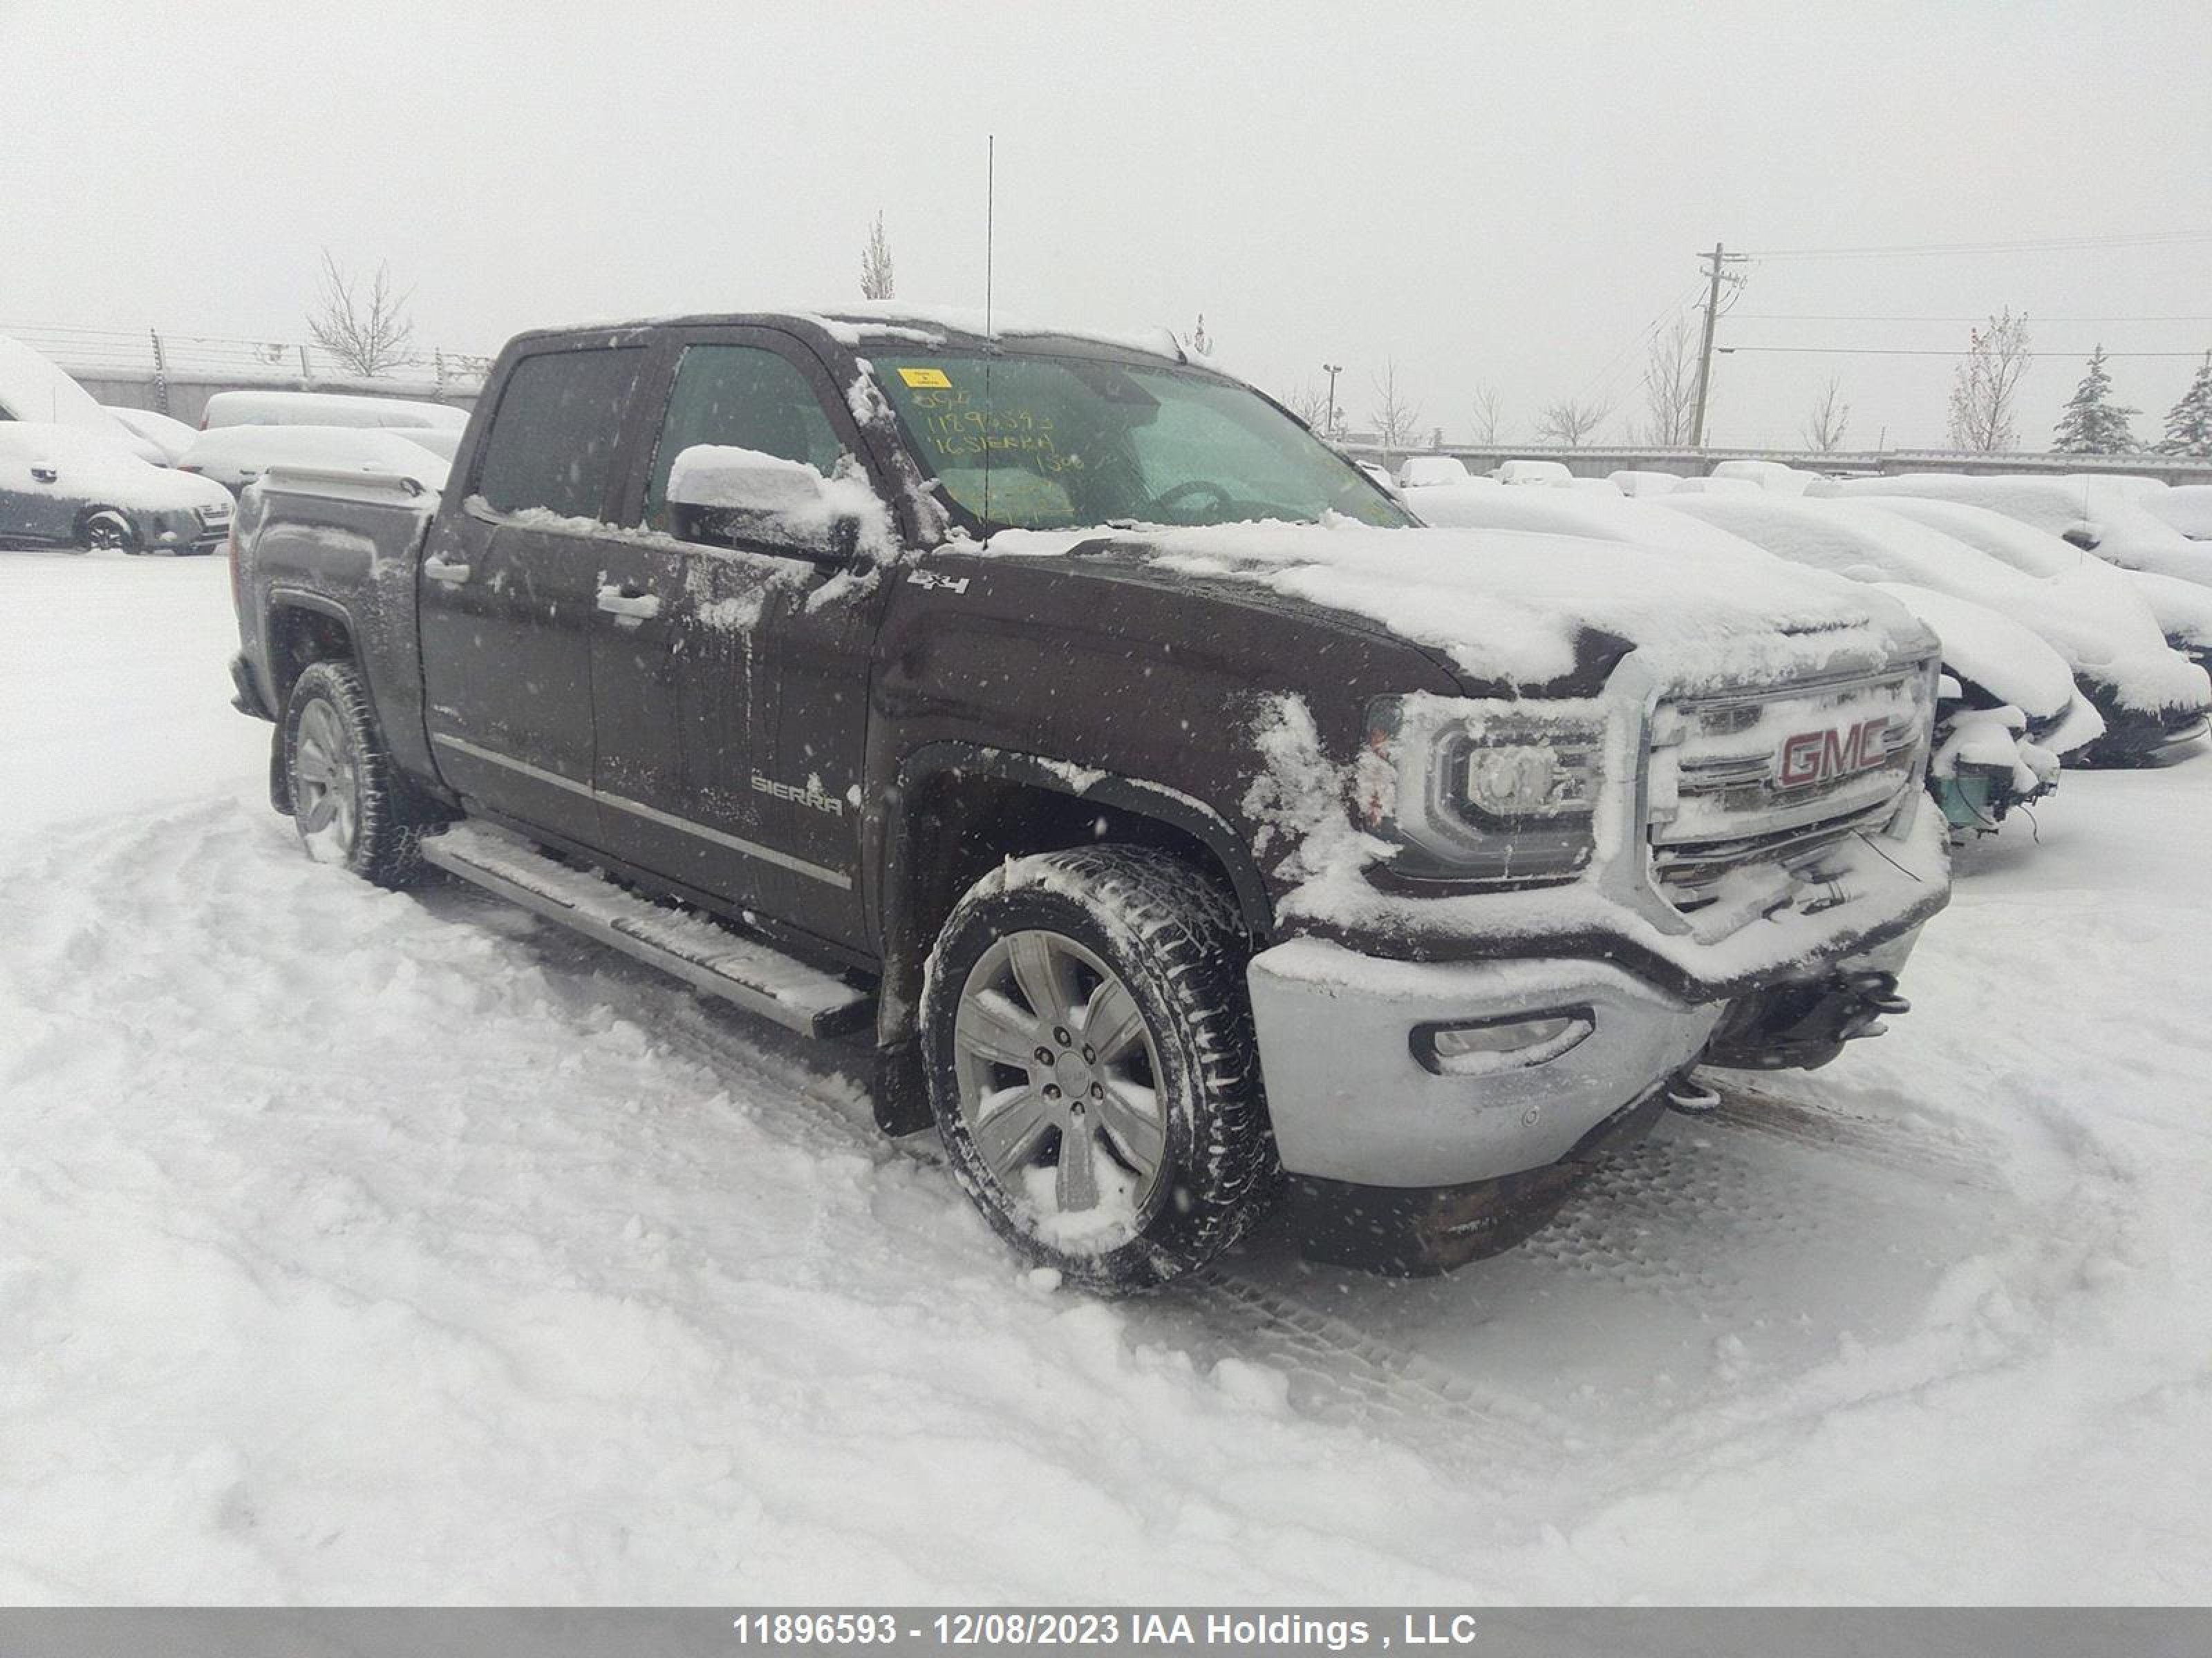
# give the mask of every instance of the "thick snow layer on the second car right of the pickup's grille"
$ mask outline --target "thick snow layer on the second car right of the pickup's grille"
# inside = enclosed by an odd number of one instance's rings
[[[2201,670],[2166,646],[2157,619],[2108,568],[2081,568],[2077,562],[2064,575],[2035,577],[1913,513],[1893,513],[1871,500],[1692,495],[1668,497],[1659,506],[1743,535],[1792,564],[1902,581],[2011,617],[2057,650],[2068,672],[2108,683],[2128,707],[2154,712],[2201,707],[2205,701]],[[1938,502],[1924,506],[1964,511]],[[2053,546],[2075,550],[2064,542]]]

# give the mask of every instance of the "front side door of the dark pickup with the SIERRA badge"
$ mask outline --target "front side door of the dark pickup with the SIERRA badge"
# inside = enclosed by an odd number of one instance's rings
[[[792,542],[681,542],[668,471],[695,444],[726,444],[832,473],[860,436],[803,345],[776,329],[688,329],[668,340],[653,431],[626,520],[646,535],[608,546],[593,628],[597,787],[608,849],[730,904],[827,937],[858,913],[858,780],[865,659],[821,679],[794,646],[849,606],[825,606],[849,573]],[[874,588],[874,584],[872,584]],[[869,588],[869,590],[872,590]],[[834,617],[825,617],[834,608]],[[841,699],[849,754],[792,754],[792,699]],[[628,822],[613,822],[615,816]],[[856,928],[852,928],[856,931]]]

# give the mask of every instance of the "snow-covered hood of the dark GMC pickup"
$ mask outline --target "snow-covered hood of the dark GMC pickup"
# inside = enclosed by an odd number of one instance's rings
[[[1480,685],[1566,679],[1593,632],[1635,646],[1646,670],[1674,690],[1778,683],[1933,650],[1929,632],[1882,595],[1750,548],[1652,557],[1582,535],[1371,528],[1332,517],[1004,531],[989,550],[1248,581],[1380,623]]]

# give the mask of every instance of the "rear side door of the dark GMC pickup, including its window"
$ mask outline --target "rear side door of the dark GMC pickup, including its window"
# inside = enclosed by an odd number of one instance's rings
[[[425,723],[478,809],[599,844],[591,628],[646,347],[520,358],[418,577]]]

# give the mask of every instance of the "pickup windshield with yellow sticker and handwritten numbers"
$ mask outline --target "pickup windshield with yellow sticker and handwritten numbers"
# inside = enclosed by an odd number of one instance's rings
[[[1068,356],[880,354],[907,442],[989,535],[1091,524],[1413,520],[1245,387]]]

